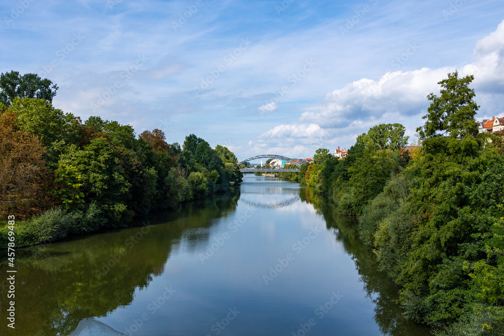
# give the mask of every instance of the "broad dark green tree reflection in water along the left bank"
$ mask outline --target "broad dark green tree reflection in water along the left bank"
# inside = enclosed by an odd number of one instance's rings
[[[16,329],[7,330],[2,323],[0,334],[68,335],[84,318],[131,304],[137,288],[163,273],[173,241],[185,229],[209,227],[233,211],[238,198],[235,191],[145,218],[154,225],[131,249],[128,242],[141,227],[16,251]],[[160,223],[168,224],[155,225]],[[105,264],[124,252],[107,270]],[[5,268],[0,265],[2,274]],[[6,298],[8,287],[5,281],[1,284],[0,297]],[[0,317],[6,320],[1,308]]]

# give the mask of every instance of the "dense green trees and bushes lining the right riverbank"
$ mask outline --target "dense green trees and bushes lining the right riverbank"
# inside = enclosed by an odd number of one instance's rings
[[[504,334],[502,133],[478,133],[472,80],[455,72],[438,83],[411,151],[401,124],[381,124],[345,160],[319,149],[300,173],[279,173],[359,216],[404,316],[436,335]]]

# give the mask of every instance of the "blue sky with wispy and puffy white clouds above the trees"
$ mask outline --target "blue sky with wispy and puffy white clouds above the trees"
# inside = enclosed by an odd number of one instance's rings
[[[4,0],[0,72],[59,86],[53,104],[238,159],[349,148],[382,122],[411,140],[426,95],[475,74],[504,116],[504,6],[493,0]],[[185,15],[185,17],[184,17]]]

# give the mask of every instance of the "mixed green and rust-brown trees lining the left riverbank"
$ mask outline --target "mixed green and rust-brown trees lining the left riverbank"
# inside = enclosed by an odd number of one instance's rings
[[[241,182],[236,157],[191,134],[168,144],[154,129],[91,116],[80,125],[52,106],[58,87],[35,74],[0,76],[0,245],[16,216],[16,246],[124,227],[150,210]]]

